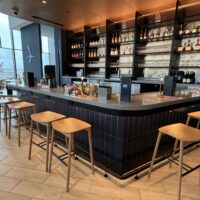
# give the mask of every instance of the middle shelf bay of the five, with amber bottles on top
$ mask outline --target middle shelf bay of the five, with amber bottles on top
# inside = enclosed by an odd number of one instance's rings
[[[135,21],[107,21],[106,78],[120,79],[121,74],[133,74]]]

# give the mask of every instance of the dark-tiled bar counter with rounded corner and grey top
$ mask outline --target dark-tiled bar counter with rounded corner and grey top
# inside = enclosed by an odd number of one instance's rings
[[[62,87],[42,89],[11,83],[7,88],[18,91],[22,100],[35,103],[38,112],[51,110],[89,122],[95,164],[120,179],[137,175],[149,166],[159,127],[185,123],[188,112],[200,110],[200,95],[191,90],[163,98],[156,93],[135,94],[130,103],[125,103],[117,95],[106,102],[96,97],[67,96]],[[173,142],[168,137],[162,139],[158,161],[169,155]],[[75,149],[88,159],[87,136],[77,135]]]

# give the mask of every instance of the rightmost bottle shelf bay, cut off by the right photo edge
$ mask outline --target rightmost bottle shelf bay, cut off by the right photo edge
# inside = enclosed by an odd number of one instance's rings
[[[174,71],[171,72],[172,75],[177,74],[178,71],[192,71],[196,73],[196,81],[199,82],[197,74],[200,69],[200,6],[193,6],[182,8],[177,5],[176,10],[176,31],[174,35],[174,49],[173,51],[173,63],[171,63],[171,68]],[[191,15],[193,13],[193,15]],[[199,27],[199,28],[198,28]],[[180,32],[182,31],[182,32]],[[198,50],[193,49],[195,44],[199,40]],[[191,44],[191,50],[187,50],[186,47]],[[178,51],[178,48],[183,48],[182,51]],[[197,48],[197,47],[196,47]],[[198,69],[199,68],[199,69]]]

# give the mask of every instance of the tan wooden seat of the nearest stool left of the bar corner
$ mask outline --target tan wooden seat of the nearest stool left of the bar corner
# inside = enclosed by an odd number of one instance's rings
[[[73,134],[91,128],[91,125],[76,118],[66,118],[53,122],[52,127],[63,134]]]

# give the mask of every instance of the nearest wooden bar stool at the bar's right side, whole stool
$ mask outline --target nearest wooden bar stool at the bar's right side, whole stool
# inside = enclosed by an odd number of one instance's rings
[[[183,163],[183,147],[184,147],[184,142],[198,142],[200,141],[200,130],[187,126],[185,124],[182,123],[177,123],[177,124],[172,124],[172,125],[168,125],[168,126],[163,126],[161,128],[159,128],[159,134],[158,134],[158,138],[156,141],[156,146],[154,149],[154,153],[153,153],[153,157],[152,157],[152,161],[151,161],[151,165],[150,165],[150,169],[149,169],[149,173],[148,173],[148,177],[150,177],[151,175],[151,171],[153,168],[153,164],[156,158],[156,154],[158,151],[158,147],[160,144],[160,140],[162,135],[168,135],[171,136],[173,138],[175,138],[176,140],[180,141],[180,153],[179,153],[179,174],[178,174],[178,194],[177,194],[177,200],[181,199],[181,179],[182,176],[185,176],[186,174],[194,171],[195,169],[199,168],[200,165],[191,168],[188,167],[188,165],[185,165]],[[186,170],[185,173],[182,174],[182,168],[184,168]]]

